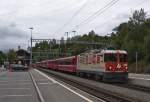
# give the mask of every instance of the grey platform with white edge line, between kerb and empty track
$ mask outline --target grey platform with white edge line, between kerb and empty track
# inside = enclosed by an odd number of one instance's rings
[[[39,70],[34,69],[31,73],[45,102],[104,102]]]

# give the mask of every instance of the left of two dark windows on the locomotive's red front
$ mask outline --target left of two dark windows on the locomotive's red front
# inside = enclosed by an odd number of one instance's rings
[[[117,55],[116,54],[104,54],[104,61],[105,62],[117,62]]]

